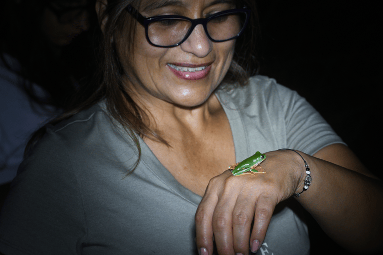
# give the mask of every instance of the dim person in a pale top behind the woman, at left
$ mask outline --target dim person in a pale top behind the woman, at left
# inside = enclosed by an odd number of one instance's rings
[[[0,15],[1,195],[29,136],[68,108],[89,67],[91,0],[3,0]],[[88,31],[88,32],[87,32]],[[87,33],[85,33],[87,32]],[[2,199],[2,197],[1,197]]]

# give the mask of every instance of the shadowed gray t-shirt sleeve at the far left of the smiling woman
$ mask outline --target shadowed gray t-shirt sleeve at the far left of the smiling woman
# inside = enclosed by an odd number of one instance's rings
[[[19,169],[0,215],[6,255],[78,254],[86,237],[81,192],[56,134],[36,146]],[[24,170],[27,169],[27,170]]]

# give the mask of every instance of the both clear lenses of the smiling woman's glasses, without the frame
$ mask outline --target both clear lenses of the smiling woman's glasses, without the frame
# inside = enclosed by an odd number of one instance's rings
[[[206,32],[215,41],[225,41],[237,36],[243,28],[245,19],[246,13],[244,12],[220,15],[207,22]],[[157,20],[148,25],[148,37],[154,45],[176,45],[184,40],[191,26],[191,21],[187,19]]]

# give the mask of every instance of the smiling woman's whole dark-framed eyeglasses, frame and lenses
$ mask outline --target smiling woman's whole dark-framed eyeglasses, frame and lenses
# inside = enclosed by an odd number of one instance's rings
[[[250,10],[229,9],[206,18],[191,19],[180,15],[145,17],[131,4],[125,8],[145,27],[148,42],[157,47],[171,48],[182,44],[201,24],[212,42],[224,42],[242,34],[250,18]]]

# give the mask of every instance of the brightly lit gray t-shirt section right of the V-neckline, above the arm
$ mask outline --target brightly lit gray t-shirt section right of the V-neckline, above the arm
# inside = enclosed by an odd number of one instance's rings
[[[296,91],[256,75],[246,86],[218,94],[229,119],[237,161],[255,151],[290,148],[313,155],[343,143],[322,116]]]

